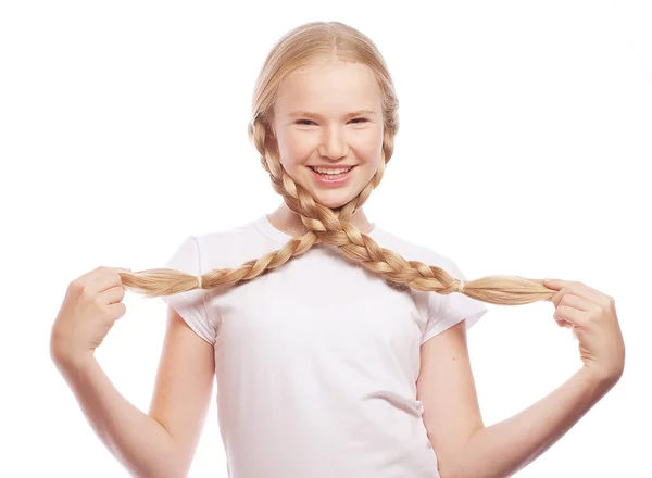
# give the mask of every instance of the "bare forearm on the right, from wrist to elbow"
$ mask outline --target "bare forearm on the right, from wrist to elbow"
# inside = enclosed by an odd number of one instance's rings
[[[476,431],[457,460],[455,478],[505,478],[535,461],[614,385],[581,367],[549,395],[511,418]]]

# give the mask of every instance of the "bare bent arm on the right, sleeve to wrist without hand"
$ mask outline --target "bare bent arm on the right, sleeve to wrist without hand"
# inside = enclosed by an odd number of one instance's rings
[[[504,478],[561,438],[617,381],[582,367],[548,397],[485,427],[471,370],[464,320],[421,350],[417,397],[442,478]]]

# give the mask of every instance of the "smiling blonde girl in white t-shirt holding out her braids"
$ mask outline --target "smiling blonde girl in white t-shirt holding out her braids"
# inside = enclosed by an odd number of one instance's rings
[[[165,268],[100,267],[71,282],[52,356],[135,476],[187,475],[215,376],[231,478],[507,476],[618,380],[624,345],[609,295],[562,280],[466,284],[451,259],[369,222],[362,206],[391,159],[397,110],[367,37],[337,22],[293,29],[263,65],[249,125],[284,203],[188,237]],[[93,358],[125,312],[125,287],[168,304],[148,414]],[[466,329],[484,302],[538,300],[574,327],[585,367],[486,427]]]

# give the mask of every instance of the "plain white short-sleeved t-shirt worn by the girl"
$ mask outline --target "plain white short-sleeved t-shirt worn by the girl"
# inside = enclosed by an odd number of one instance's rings
[[[466,279],[450,259],[378,225],[369,236]],[[290,239],[263,215],[188,237],[165,267],[237,267]],[[472,327],[482,302],[394,290],[324,243],[239,286],[162,299],[215,349],[230,478],[439,477],[416,400],[419,347],[463,319]]]

